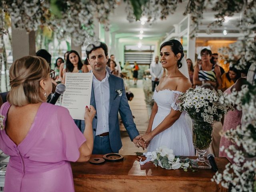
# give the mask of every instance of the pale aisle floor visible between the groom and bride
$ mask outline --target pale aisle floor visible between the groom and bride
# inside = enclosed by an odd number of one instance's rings
[[[140,134],[144,134],[148,127],[149,115],[144,101],[142,80],[138,80],[137,85],[133,85],[133,81],[130,80],[129,90],[134,94],[133,100],[129,102],[132,114],[135,116],[134,122]],[[136,148],[123,126],[120,127],[120,130],[123,144],[123,147],[119,151],[120,154],[132,155],[134,152],[146,152],[146,150],[143,151],[142,148]]]

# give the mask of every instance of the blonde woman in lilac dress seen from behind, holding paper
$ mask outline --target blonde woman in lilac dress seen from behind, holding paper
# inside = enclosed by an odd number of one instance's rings
[[[40,57],[26,56],[10,67],[11,90],[0,110],[0,149],[10,155],[6,192],[72,192],[70,161],[85,162],[92,154],[95,109],[86,108],[82,134],[66,108],[46,103],[51,78],[54,72]]]

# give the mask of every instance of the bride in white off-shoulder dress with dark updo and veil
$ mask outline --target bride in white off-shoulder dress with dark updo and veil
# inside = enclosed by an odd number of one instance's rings
[[[148,152],[164,145],[175,155],[194,156],[192,131],[186,112],[180,112],[177,107],[178,96],[191,87],[189,78],[179,70],[184,56],[182,44],[178,40],[164,42],[160,46],[160,56],[167,75],[160,79],[154,91],[155,103],[142,141]],[[186,64],[184,66],[187,67]]]

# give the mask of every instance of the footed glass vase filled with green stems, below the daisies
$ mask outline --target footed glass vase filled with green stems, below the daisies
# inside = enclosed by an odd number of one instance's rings
[[[192,162],[194,168],[210,169],[210,162],[204,158],[206,150],[212,143],[212,124],[192,119],[193,122],[193,144],[198,153],[198,158]]]

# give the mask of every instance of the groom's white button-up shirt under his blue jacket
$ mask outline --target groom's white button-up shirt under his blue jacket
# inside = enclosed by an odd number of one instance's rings
[[[96,135],[100,135],[105,132],[109,132],[108,124],[108,110],[109,110],[109,84],[108,84],[109,74],[106,71],[106,77],[99,81],[93,75],[92,84],[95,96],[96,111],[97,111],[97,129]]]

